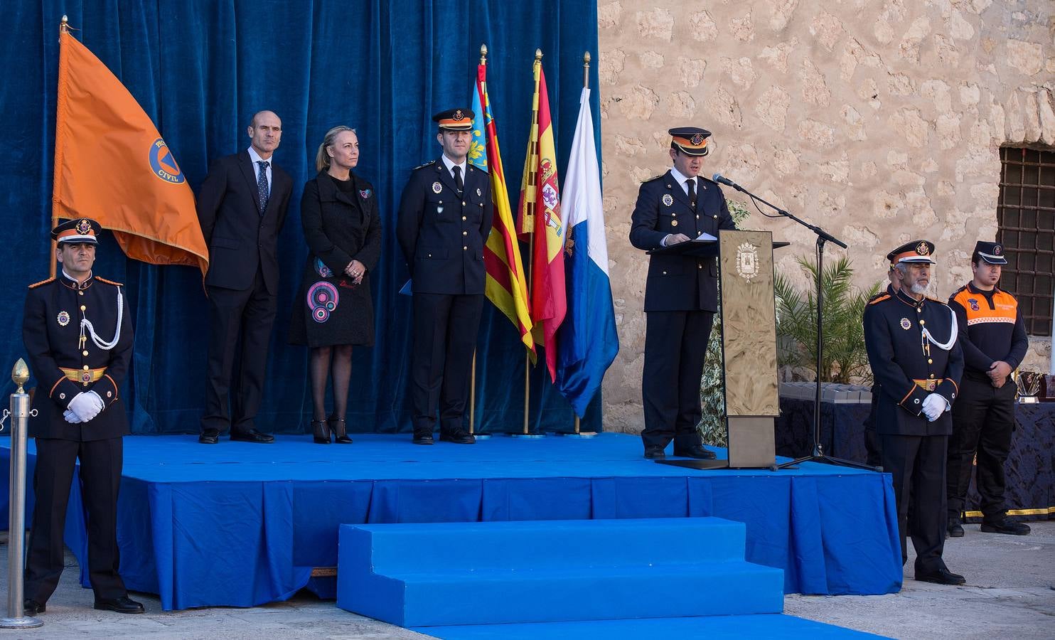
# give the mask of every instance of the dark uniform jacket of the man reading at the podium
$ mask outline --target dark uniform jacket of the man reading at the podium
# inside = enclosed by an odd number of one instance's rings
[[[725,195],[716,183],[696,178],[696,210],[671,172],[641,183],[631,215],[630,244],[658,249],[668,233],[690,239],[720,229],[735,229]],[[714,258],[652,256],[645,288],[646,312],[717,310],[717,263]]]

